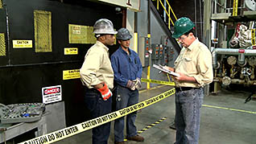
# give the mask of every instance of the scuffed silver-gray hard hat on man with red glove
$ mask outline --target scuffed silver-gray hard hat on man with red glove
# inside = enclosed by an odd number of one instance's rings
[[[99,19],[93,26],[93,33],[99,34],[117,34],[118,31],[114,31],[113,23],[109,19]]]

